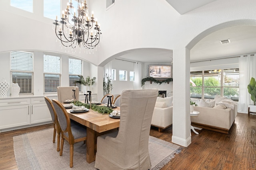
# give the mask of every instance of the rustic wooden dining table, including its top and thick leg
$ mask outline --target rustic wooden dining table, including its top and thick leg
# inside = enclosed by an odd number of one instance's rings
[[[105,106],[105,105],[99,105]],[[106,133],[118,130],[120,119],[111,118],[109,114],[102,114],[88,108],[84,113],[70,113],[72,109],[66,109],[70,119],[86,126],[86,161],[94,162],[97,151],[97,137]],[[120,111],[120,107],[112,108]]]

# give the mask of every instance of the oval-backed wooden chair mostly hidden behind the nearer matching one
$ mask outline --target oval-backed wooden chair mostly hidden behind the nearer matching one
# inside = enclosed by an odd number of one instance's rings
[[[57,151],[60,151],[60,133],[61,133],[61,129],[60,129],[60,124],[58,122],[58,117],[57,117],[55,108],[52,104],[52,101],[46,96],[44,96],[44,100],[47,104],[47,107],[48,107],[50,113],[51,113],[51,117],[52,117],[52,121],[53,121],[54,131],[53,131],[53,140],[52,140],[52,142],[55,143],[55,138],[56,138],[56,133],[57,133],[58,134],[57,135]]]

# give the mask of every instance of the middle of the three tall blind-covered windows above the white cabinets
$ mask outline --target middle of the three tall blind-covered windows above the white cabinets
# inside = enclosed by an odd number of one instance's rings
[[[44,93],[57,92],[61,82],[60,57],[44,55]]]

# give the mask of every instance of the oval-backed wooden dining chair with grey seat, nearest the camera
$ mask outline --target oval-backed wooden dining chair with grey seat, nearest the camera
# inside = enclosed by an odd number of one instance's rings
[[[68,141],[70,145],[70,168],[73,167],[73,153],[74,153],[74,143],[80,141],[86,141],[86,127],[75,125],[70,126],[70,118],[65,107],[58,101],[52,100],[53,106],[55,107],[58,121],[61,129],[61,144],[60,144],[60,156],[62,156],[64,139]],[[86,160],[84,160],[86,161]]]

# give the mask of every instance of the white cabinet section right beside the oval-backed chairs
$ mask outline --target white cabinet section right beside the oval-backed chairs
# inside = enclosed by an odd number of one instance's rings
[[[52,121],[50,111],[43,97],[31,98],[30,123],[42,123]]]

